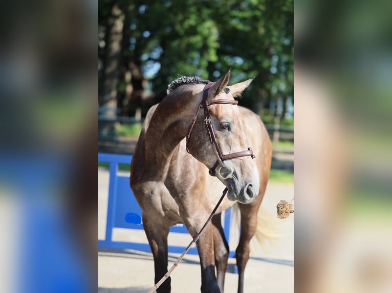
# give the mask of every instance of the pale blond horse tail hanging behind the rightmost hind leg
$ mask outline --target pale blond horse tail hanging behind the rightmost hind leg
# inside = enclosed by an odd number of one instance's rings
[[[239,227],[241,222],[241,212],[238,205],[235,204],[232,208],[232,218],[230,227],[230,247],[236,247],[239,239]],[[258,242],[258,245],[263,249],[264,253],[268,253],[268,247],[277,242],[283,236],[282,221],[279,221],[276,214],[266,211],[260,207],[257,213],[257,228],[252,242]],[[255,241],[256,240],[256,241]]]

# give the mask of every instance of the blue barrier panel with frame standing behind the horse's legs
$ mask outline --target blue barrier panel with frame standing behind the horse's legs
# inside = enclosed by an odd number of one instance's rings
[[[127,176],[118,175],[118,165],[130,165],[132,156],[130,155],[116,155],[116,154],[98,154],[98,162],[109,163],[109,194],[107,202],[107,218],[106,218],[106,232],[105,239],[98,240],[99,248],[110,249],[133,249],[145,252],[151,252],[148,243],[138,242],[124,242],[113,241],[114,228],[126,229],[143,229],[142,210],[136,201],[132,189],[129,187],[129,178]],[[226,239],[230,239],[230,222],[231,209],[224,212],[224,231]],[[189,234],[184,225],[176,225],[170,228],[170,233],[185,233]],[[189,237],[191,240],[191,237]],[[186,247],[169,245],[169,253],[183,253]],[[189,254],[198,254],[196,247],[189,250]],[[235,252],[231,251],[229,257],[234,257]]]

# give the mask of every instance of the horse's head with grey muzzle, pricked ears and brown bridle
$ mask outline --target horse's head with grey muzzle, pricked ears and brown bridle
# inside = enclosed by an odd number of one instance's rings
[[[244,118],[234,97],[253,79],[227,86],[229,79],[230,70],[203,90],[201,107],[204,109],[194,120],[187,149],[226,185],[229,200],[246,204],[258,196],[259,175],[248,145]]]

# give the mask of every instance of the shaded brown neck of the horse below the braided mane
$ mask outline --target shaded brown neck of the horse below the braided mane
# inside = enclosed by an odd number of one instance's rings
[[[200,101],[191,92],[174,91],[157,107],[146,132],[146,168],[157,179],[166,177]]]

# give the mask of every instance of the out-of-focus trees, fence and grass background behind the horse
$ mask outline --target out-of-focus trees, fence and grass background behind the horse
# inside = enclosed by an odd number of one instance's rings
[[[229,68],[230,84],[255,77],[239,104],[263,119],[273,167],[292,182],[292,0],[99,1],[99,152],[132,154],[171,81],[216,81]]]

